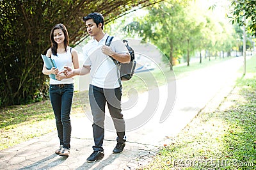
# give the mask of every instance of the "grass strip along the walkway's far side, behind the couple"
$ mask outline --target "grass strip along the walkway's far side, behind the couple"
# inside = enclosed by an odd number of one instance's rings
[[[206,59],[202,64],[191,63],[189,67],[186,65],[174,66],[173,70],[175,72],[175,77],[179,79],[195,70],[220,63],[227,59],[230,58],[217,58],[212,59],[211,61]],[[150,76],[155,77],[156,82],[149,86],[154,87],[164,84],[165,79],[163,75],[173,75],[173,73],[169,70],[165,70],[164,72],[152,72],[152,75]],[[148,77],[147,73],[141,73],[140,76],[143,77],[142,81],[140,77],[134,77],[131,81],[124,82],[124,97],[125,94],[127,94],[127,89],[134,86],[138,89],[139,93],[148,89],[148,87],[145,86],[145,83],[147,83],[147,80],[148,82],[151,82],[150,76]],[[83,107],[81,107],[81,104],[83,104]],[[83,109],[88,109],[87,91],[76,92],[74,94],[71,116],[84,116]],[[0,110],[0,150],[55,130],[54,114],[49,100],[38,102],[36,104],[15,105]]]

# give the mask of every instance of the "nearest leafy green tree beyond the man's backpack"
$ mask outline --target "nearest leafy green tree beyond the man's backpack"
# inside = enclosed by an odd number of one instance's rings
[[[142,40],[157,44],[157,47],[169,57],[172,69],[173,58],[181,56],[182,34],[184,27],[184,5],[187,1],[162,2],[147,8],[148,14],[135,18],[134,22],[124,27],[125,31],[138,33]]]

